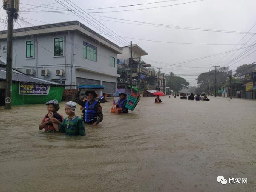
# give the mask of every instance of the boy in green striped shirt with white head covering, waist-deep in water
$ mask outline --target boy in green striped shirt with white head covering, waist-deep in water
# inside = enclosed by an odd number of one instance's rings
[[[69,101],[65,104],[65,113],[68,115],[59,125],[59,132],[70,136],[85,136],[85,125],[79,116],[76,116],[76,103]]]

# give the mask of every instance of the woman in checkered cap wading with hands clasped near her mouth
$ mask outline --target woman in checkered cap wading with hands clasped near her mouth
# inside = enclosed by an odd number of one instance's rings
[[[47,105],[48,113],[39,125],[39,129],[45,129],[45,132],[58,132],[58,125],[60,125],[64,119],[61,114],[57,113],[60,108],[59,103],[57,100],[50,100],[46,102],[45,105]]]

